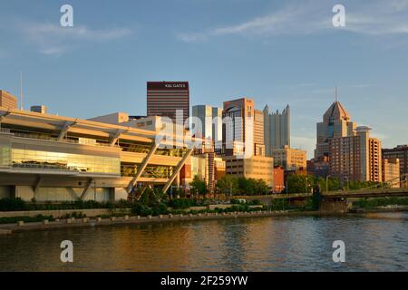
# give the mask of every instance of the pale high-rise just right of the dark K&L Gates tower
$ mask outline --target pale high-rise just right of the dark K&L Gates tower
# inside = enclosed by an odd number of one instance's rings
[[[213,142],[222,140],[222,109],[208,105],[197,105],[192,107],[192,116],[201,121],[200,134],[196,137],[210,139]]]

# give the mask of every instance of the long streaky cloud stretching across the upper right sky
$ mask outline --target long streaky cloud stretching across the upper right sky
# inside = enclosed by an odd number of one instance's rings
[[[349,4],[347,4],[349,3]],[[357,34],[408,34],[408,0],[347,2],[345,27],[332,25],[333,13],[325,1],[287,5],[271,14],[238,24],[219,26],[199,33],[183,33],[181,41],[196,43],[223,35],[277,36],[281,34],[316,34],[339,29]]]

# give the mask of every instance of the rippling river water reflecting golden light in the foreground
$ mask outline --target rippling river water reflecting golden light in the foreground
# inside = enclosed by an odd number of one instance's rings
[[[73,263],[60,260],[73,242]],[[335,263],[333,242],[345,242]],[[0,236],[0,271],[407,271],[408,212],[236,218]]]

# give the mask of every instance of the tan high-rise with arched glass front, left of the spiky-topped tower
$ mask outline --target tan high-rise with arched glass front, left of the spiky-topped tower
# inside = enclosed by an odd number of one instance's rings
[[[254,101],[248,98],[224,102],[222,140],[226,155],[254,155],[254,111]]]

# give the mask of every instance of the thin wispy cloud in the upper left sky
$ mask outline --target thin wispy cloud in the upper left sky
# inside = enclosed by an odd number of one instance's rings
[[[109,42],[131,34],[127,28],[95,30],[81,25],[62,27],[57,24],[20,24],[17,31],[40,53],[55,56],[72,51],[82,43]]]

